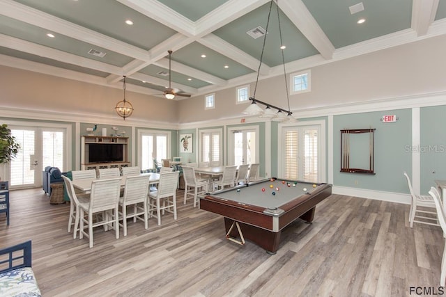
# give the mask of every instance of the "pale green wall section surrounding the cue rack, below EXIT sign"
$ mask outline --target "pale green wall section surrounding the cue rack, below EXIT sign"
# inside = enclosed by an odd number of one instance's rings
[[[397,115],[397,122],[383,123],[383,115]],[[412,111],[399,109],[335,115],[333,118],[333,183],[336,186],[375,191],[408,193],[403,171],[411,174],[412,156],[407,147],[412,143]],[[346,173],[341,170],[341,129],[375,128],[375,175]],[[355,148],[351,138],[351,149]],[[359,144],[358,147],[361,145]],[[369,154],[367,147],[364,154]]]

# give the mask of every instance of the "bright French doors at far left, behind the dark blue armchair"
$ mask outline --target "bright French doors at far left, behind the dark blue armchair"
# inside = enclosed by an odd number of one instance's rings
[[[32,188],[42,185],[46,166],[67,170],[67,129],[8,125],[20,143],[20,151],[8,164],[11,188]]]

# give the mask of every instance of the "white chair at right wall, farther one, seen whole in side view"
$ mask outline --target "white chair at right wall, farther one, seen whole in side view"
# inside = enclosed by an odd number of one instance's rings
[[[409,176],[407,175],[406,172],[403,172],[403,175],[406,177],[410,191],[410,196],[412,198],[409,211],[410,227],[411,228],[413,227],[414,222],[438,226],[436,211],[426,210],[426,209],[435,209],[435,203],[433,202],[432,197],[430,195],[415,194]],[[424,209],[420,209],[420,207],[424,207]]]

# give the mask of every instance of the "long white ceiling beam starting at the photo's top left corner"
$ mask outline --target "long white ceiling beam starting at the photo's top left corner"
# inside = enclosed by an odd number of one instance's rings
[[[97,45],[98,47],[110,49],[125,56],[137,58],[142,61],[150,59],[148,52],[144,49],[134,47],[114,38],[109,38],[107,35],[103,35],[82,26],[72,24],[66,20],[59,19],[58,17],[43,13],[40,10],[33,9],[28,6],[24,6],[15,1],[1,0],[0,13],[21,22],[39,26],[40,28],[47,29],[54,33],[59,33],[70,38],[75,38],[77,40],[90,43],[91,45]]]

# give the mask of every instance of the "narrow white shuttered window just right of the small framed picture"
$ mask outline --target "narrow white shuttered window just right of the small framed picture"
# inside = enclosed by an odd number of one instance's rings
[[[222,164],[222,130],[200,131],[200,162],[218,162]]]

